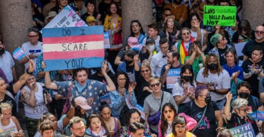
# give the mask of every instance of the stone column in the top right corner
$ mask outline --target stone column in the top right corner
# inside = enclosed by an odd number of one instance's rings
[[[243,0],[242,18],[250,21],[252,29],[264,23],[264,1]]]

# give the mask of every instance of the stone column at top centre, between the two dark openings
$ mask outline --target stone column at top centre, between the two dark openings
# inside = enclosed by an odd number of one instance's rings
[[[122,0],[122,35],[123,42],[130,34],[130,22],[139,20],[147,32],[147,25],[152,23],[152,0]]]

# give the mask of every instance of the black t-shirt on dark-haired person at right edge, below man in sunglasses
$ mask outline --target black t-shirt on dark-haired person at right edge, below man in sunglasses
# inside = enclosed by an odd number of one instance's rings
[[[250,60],[245,60],[242,64],[242,69],[245,73],[250,72],[251,65],[253,63]],[[264,66],[264,60],[261,60],[260,62],[257,62],[256,64],[259,65],[259,67]],[[255,68],[259,69],[259,68]],[[253,74],[250,78],[245,79],[245,81],[250,82],[251,87],[252,87],[252,95],[256,96],[259,98],[259,79],[257,74]]]

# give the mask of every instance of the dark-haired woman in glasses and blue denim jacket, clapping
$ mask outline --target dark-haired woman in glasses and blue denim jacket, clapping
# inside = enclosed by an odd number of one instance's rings
[[[123,71],[117,71],[115,74],[115,86],[117,90],[110,92],[111,99],[111,112],[112,116],[117,117],[119,119],[121,111],[124,107],[127,107],[126,99],[128,99],[131,105],[136,106],[136,96],[134,93],[134,88],[136,88],[135,84],[129,84],[130,79],[128,74]]]

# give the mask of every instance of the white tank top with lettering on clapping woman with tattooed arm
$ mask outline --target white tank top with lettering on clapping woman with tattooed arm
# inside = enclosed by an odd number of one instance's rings
[[[35,92],[36,97],[36,106],[32,108],[31,106],[24,103],[25,107],[25,116],[31,119],[40,119],[40,117],[45,113],[48,112],[47,105],[44,103],[43,98],[43,88],[40,83],[36,82],[36,86],[38,86],[38,92]],[[30,92],[30,89],[25,86],[23,89]]]

